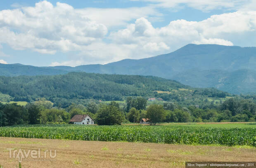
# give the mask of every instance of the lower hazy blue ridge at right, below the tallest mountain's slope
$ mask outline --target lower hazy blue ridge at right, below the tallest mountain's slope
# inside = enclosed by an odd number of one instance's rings
[[[190,69],[173,78],[192,87],[215,87],[235,94],[256,93],[256,71],[249,69],[235,71]]]

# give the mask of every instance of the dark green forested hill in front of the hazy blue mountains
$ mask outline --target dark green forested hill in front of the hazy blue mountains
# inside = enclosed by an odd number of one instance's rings
[[[110,101],[123,100],[128,96],[142,96],[159,97],[166,101],[184,101],[197,96],[229,95],[216,89],[194,89],[177,81],[153,76],[84,72],[55,76],[0,76],[0,92],[11,96],[14,101],[30,102],[44,97],[62,107],[84,99]]]

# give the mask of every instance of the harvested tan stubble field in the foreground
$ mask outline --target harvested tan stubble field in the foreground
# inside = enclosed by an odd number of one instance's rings
[[[7,148],[13,148],[11,157],[14,150],[19,152],[21,149],[24,155],[22,168],[185,168],[185,161],[256,161],[256,148],[251,147],[0,137],[0,165],[3,168],[19,165],[17,158],[9,158]],[[29,150],[38,151],[39,148],[40,158],[32,158]],[[56,150],[56,157],[50,157],[50,150],[52,156]],[[28,154],[27,158],[25,154]],[[38,157],[38,154],[32,156]]]

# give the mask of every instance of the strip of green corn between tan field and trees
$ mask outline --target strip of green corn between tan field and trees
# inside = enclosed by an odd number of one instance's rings
[[[194,145],[249,145],[256,147],[256,127],[27,125],[0,127],[0,136]]]

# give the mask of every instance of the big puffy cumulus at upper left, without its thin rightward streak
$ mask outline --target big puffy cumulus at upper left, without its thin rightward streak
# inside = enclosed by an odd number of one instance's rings
[[[0,43],[40,53],[80,50],[100,41],[107,27],[81,15],[72,6],[40,1],[35,7],[0,11]]]

